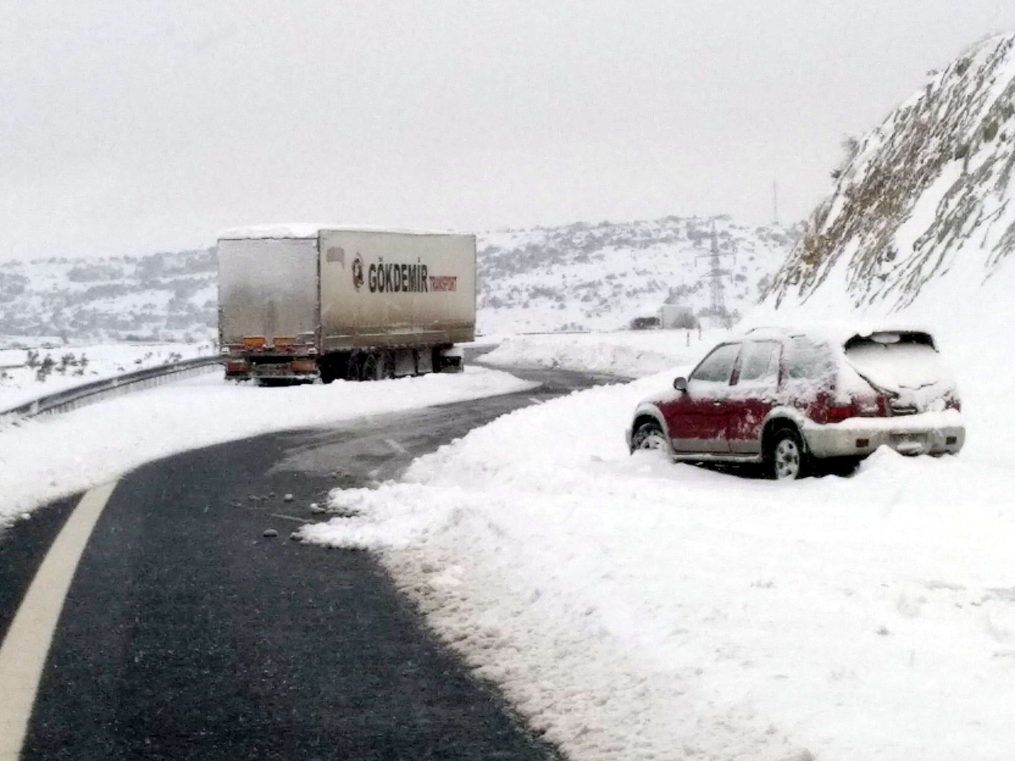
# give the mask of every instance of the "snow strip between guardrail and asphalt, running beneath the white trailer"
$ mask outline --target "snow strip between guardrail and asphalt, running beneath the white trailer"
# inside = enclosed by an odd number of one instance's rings
[[[466,367],[461,374],[280,389],[236,386],[216,374],[20,421],[0,428],[0,527],[41,504],[178,452],[532,386],[480,367]]]

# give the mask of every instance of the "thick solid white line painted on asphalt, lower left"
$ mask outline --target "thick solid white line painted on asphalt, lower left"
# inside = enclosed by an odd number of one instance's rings
[[[0,645],[0,761],[17,761],[77,562],[116,482],[87,492],[39,566]]]

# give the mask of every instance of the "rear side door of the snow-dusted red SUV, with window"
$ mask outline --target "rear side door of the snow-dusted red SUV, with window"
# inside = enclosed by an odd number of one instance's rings
[[[761,426],[779,391],[781,354],[779,341],[747,341],[740,351],[726,418],[726,437],[735,455],[761,452]]]

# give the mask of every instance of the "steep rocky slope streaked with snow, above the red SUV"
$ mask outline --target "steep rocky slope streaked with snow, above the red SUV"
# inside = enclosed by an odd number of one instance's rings
[[[769,302],[930,314],[929,291],[973,298],[1015,251],[1015,34],[932,72],[847,148]]]

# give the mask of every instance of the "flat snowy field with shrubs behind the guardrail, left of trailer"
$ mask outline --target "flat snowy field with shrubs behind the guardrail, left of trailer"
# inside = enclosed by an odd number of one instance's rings
[[[9,346],[12,341],[2,342],[0,346]],[[29,359],[29,351],[36,353],[33,359]],[[207,342],[60,345],[52,349],[0,348],[0,410],[91,380],[203,356],[212,351],[212,345]],[[43,370],[41,379],[40,369],[47,363],[47,358],[53,365],[49,371]]]

